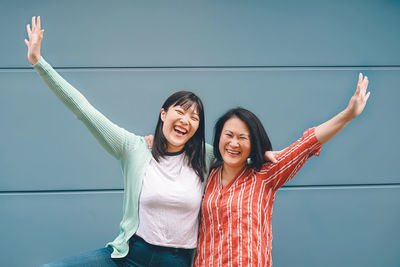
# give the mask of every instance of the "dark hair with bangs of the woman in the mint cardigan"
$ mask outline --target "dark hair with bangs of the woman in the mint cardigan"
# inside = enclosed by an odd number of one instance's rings
[[[189,165],[195,170],[201,181],[204,181],[205,173],[205,138],[204,138],[204,107],[201,99],[192,92],[179,91],[167,98],[162,108],[167,111],[171,106],[181,106],[187,110],[193,104],[196,105],[199,114],[199,128],[195,134],[185,144],[185,155],[189,160]],[[167,155],[167,140],[162,132],[164,122],[161,120],[161,114],[158,116],[158,122],[154,133],[152,154],[155,160]]]

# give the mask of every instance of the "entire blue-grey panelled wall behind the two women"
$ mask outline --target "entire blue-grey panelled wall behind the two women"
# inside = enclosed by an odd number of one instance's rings
[[[197,93],[207,141],[230,107],[254,111],[279,150],[347,105],[359,118],[280,189],[274,266],[400,264],[400,2],[1,1],[0,265],[34,266],[118,234],[118,163],[26,60],[41,15],[42,55],[118,125],[152,133],[163,100]]]

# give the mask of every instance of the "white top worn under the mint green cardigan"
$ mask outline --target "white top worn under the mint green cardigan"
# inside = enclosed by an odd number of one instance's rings
[[[202,184],[185,154],[151,159],[139,199],[138,236],[165,247],[196,248]]]

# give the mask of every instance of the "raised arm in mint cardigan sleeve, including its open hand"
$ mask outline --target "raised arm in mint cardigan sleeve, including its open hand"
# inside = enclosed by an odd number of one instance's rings
[[[129,149],[138,138],[118,127],[95,109],[87,99],[72,85],[65,81],[40,55],[40,46],[44,30],[41,29],[40,17],[32,17],[31,25],[27,25],[29,40],[28,60],[53,93],[81,120],[99,143],[115,158],[120,159],[124,151]]]

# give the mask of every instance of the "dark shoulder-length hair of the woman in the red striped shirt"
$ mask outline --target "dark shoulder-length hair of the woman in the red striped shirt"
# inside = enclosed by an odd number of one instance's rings
[[[222,133],[222,128],[224,128],[225,122],[230,118],[238,118],[243,121],[250,131],[250,168],[255,168],[260,170],[261,166],[266,163],[265,152],[272,150],[272,144],[268,138],[267,132],[264,126],[260,122],[254,113],[251,111],[238,107],[228,110],[224,115],[222,115],[217,123],[215,124],[214,131],[214,156],[216,162],[211,166],[211,169],[221,166],[224,162],[221,153],[219,151],[219,140]]]

